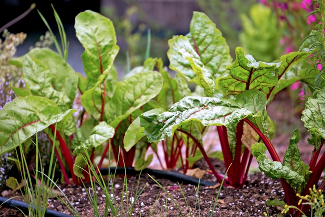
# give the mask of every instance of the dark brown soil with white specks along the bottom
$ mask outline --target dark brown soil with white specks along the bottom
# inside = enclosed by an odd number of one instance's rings
[[[221,170],[221,172],[224,172],[223,162],[213,160],[212,163],[216,169]],[[196,166],[201,169],[207,169],[207,166],[203,161],[199,161]],[[211,175],[205,174],[203,178],[211,180]],[[127,187],[129,189],[129,199],[131,188],[133,189],[132,195],[134,196],[137,180],[138,176],[128,178]],[[211,199],[213,199],[214,202],[214,199],[217,195],[217,191],[219,189],[219,187],[209,188],[207,186],[199,186],[198,197],[200,209],[198,209],[194,186],[180,184],[180,187],[183,190],[188,205],[190,207],[189,210],[181,194],[181,191],[177,186],[177,183],[174,183],[167,179],[156,180],[165,189],[168,190],[171,197],[176,201],[177,205],[180,207],[181,211],[185,214],[185,216],[189,216],[189,212],[191,212],[190,216],[199,216],[199,210],[201,216],[208,216],[208,213],[211,209]],[[145,185],[145,183],[147,184]],[[86,184],[86,186],[89,187],[89,184]],[[125,204],[126,197],[125,195],[121,195],[123,179],[116,176],[112,186],[115,194],[114,196],[116,199],[116,203],[120,204],[121,198],[123,198],[122,200]],[[142,174],[140,177],[140,188],[142,188],[143,186],[145,186],[145,188],[140,197],[135,202],[133,211],[134,216],[149,216],[151,209],[153,216],[160,216],[160,213],[161,216],[164,216],[165,204],[167,204],[167,216],[181,216],[173,201],[147,174]],[[81,216],[93,216],[93,208],[90,205],[87,194],[85,192],[86,190],[89,190],[89,188],[84,189],[80,186],[61,187]],[[195,187],[197,188],[197,186]],[[100,210],[100,216],[103,216],[105,197],[103,196],[102,190],[99,187],[97,187],[96,193],[98,197],[97,201],[98,209]],[[7,195],[7,197],[12,196],[19,196],[19,193],[14,192]],[[250,216],[263,216],[263,212],[265,211],[264,204],[266,200],[274,199],[275,197],[279,200],[283,200],[284,198],[280,182],[278,180],[272,180],[263,175],[262,173],[254,173],[253,175],[248,176],[246,184],[242,189],[222,187],[219,198],[216,203],[216,208],[214,209],[212,216],[249,216],[248,212]],[[71,212],[57,199],[49,199],[48,208],[71,214]],[[276,207],[267,207],[267,211],[270,216],[280,212],[278,209],[276,209]],[[19,215],[18,212],[13,209],[7,209],[2,207],[0,208],[0,216]]]

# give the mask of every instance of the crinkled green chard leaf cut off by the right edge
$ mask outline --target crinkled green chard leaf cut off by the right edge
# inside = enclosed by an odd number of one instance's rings
[[[325,138],[325,88],[317,93],[316,98],[308,98],[301,121],[310,133]]]

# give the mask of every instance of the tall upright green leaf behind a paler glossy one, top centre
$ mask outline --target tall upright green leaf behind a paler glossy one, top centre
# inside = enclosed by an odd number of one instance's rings
[[[193,12],[186,37],[214,78],[226,73],[225,68],[232,61],[229,47],[220,30],[215,28],[215,24],[205,14]]]

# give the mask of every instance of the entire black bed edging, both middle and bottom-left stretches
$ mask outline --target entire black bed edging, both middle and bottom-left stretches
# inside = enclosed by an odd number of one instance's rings
[[[116,169],[116,173],[115,173]],[[134,169],[134,167],[110,167],[110,173],[111,174],[126,174],[127,175],[137,175],[140,173],[140,171],[137,171]],[[108,168],[102,168],[100,169],[100,173],[102,175],[108,175]],[[171,171],[165,171],[165,170],[157,170],[157,169],[143,169],[141,173],[148,173],[150,175],[154,175],[157,178],[165,178],[169,179],[171,181],[179,182],[179,183],[184,183],[184,184],[193,184],[193,185],[198,185],[198,181],[200,185],[205,185],[205,186],[213,186],[215,185],[214,182],[212,181],[207,181],[204,179],[198,179],[194,178],[192,176],[180,174],[177,172],[171,172]],[[14,199],[8,199],[4,197],[0,197],[0,205],[8,207],[8,208],[14,208],[14,209],[20,209],[23,211],[25,214],[28,214],[28,207],[25,202],[14,200]],[[31,205],[29,205],[31,206]],[[62,212],[54,211],[51,209],[46,209],[45,211],[45,216],[48,217],[73,217],[73,215],[68,215],[64,214]]]

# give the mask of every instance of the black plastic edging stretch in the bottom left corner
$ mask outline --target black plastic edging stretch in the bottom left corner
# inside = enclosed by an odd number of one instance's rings
[[[17,210],[21,210],[23,213],[28,214],[28,207],[25,202],[14,200],[14,199],[8,199],[0,196],[0,205],[8,207],[8,208],[14,208]],[[29,207],[33,207],[32,205],[29,205]],[[33,207],[35,209],[35,207]],[[48,217],[74,217],[74,215],[64,214],[62,212],[54,211],[51,209],[46,209],[45,216]]]

